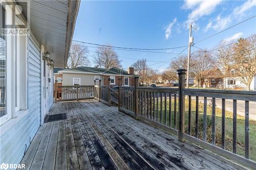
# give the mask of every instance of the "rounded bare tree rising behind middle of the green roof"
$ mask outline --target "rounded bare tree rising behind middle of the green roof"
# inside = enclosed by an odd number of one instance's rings
[[[100,68],[111,68],[111,67],[121,67],[121,61],[118,55],[109,46],[99,46],[96,55],[94,56],[94,63],[99,65]]]

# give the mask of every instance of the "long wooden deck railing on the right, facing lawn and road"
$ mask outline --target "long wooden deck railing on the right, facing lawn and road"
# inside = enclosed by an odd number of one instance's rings
[[[135,87],[120,86],[119,110],[178,135],[178,139],[182,142],[188,140],[246,166],[256,167],[256,162],[250,159],[249,152],[249,102],[256,101],[256,92],[185,89],[185,70],[178,70],[178,74],[179,88],[138,87],[138,78],[135,78]],[[230,100],[232,102],[232,110],[229,110],[228,114],[229,122],[232,119],[232,126],[228,126],[229,129],[226,128],[226,100],[229,105]],[[238,101],[244,103],[244,120],[241,117],[239,120],[244,121],[242,127],[244,132],[239,132],[240,135],[244,134],[244,145],[240,144],[239,153],[237,152]],[[220,104],[218,108],[217,104]],[[230,112],[232,112],[231,116]],[[232,144],[230,139],[226,138],[227,132],[232,136]]]

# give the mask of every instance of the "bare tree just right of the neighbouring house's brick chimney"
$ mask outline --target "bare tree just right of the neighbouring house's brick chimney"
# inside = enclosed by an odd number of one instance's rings
[[[146,81],[146,59],[141,59],[133,63],[136,75],[139,75],[140,82],[143,84]]]

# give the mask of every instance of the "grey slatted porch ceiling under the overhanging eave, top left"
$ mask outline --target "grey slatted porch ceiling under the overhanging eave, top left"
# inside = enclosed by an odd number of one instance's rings
[[[72,42],[79,1],[30,1],[29,10],[22,2],[17,2],[30,19],[30,29],[38,42],[51,53],[54,66],[64,67],[67,63]],[[27,11],[30,11],[28,18]]]

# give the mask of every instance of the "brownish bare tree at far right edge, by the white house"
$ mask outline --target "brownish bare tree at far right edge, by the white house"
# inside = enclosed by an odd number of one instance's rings
[[[240,38],[232,50],[234,55],[231,57],[231,69],[246,85],[246,90],[250,90],[251,81],[256,75],[256,34],[247,39]]]

